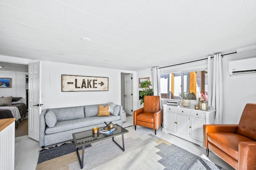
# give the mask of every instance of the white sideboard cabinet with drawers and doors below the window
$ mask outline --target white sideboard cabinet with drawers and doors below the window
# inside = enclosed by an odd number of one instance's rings
[[[194,108],[194,105],[190,107],[163,105],[162,131],[203,147],[203,125],[214,124],[215,110],[203,111]]]

